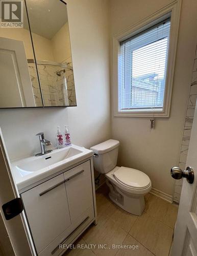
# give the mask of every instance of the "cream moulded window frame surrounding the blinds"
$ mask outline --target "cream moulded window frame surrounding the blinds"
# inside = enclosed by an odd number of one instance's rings
[[[137,24],[127,28],[126,30],[113,35],[112,37],[112,93],[113,93],[113,113],[114,117],[169,117],[171,92],[173,89],[173,78],[175,70],[176,48],[179,30],[181,1],[177,0],[170,5],[162,8],[153,15],[141,20]],[[147,109],[147,110],[118,110],[118,56],[120,54],[120,42],[135,36],[136,34],[155,26],[162,20],[170,17],[170,34],[169,48],[166,69],[166,83],[164,92],[163,109]]]

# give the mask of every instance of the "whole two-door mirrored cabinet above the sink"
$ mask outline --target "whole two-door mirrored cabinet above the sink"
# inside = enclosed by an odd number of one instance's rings
[[[13,1],[18,3],[22,26],[13,26],[11,12],[1,20],[0,108],[76,106],[66,4]],[[17,11],[12,14],[18,17]]]

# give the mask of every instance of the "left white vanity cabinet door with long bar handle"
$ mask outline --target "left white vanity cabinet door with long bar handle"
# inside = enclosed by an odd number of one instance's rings
[[[70,226],[64,175],[21,194],[38,253]]]

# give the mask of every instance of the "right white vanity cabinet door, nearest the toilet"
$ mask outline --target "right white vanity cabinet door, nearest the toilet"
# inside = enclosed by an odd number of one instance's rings
[[[66,194],[71,223],[83,216],[87,209],[93,209],[93,194],[90,161],[64,173]]]

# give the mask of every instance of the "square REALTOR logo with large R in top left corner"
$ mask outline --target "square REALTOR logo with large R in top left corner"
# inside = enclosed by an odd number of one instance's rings
[[[23,28],[23,1],[1,0],[1,28]]]

